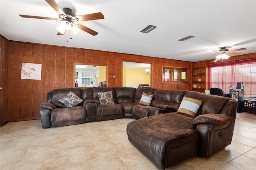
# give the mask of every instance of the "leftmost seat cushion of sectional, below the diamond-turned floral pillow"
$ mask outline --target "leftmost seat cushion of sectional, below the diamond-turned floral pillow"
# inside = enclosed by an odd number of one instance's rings
[[[62,107],[56,108],[51,112],[51,122],[64,122],[64,121],[74,121],[86,118],[85,107]]]

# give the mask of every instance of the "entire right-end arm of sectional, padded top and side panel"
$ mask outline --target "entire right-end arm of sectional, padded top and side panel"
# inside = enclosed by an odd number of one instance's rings
[[[232,141],[234,120],[221,114],[208,113],[193,121],[198,132],[198,155],[209,158]]]

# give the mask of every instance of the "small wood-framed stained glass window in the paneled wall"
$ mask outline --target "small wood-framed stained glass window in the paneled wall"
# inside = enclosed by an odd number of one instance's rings
[[[188,69],[163,67],[163,82],[187,82]]]

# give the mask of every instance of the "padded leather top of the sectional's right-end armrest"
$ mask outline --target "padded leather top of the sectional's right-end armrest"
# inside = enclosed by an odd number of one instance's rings
[[[230,123],[232,117],[221,114],[208,113],[204,115],[199,115],[193,120],[193,125],[200,123],[209,123],[209,124],[226,124]]]

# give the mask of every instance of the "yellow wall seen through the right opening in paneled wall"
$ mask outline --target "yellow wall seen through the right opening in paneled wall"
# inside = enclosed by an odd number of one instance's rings
[[[146,74],[144,69],[126,69],[126,86],[139,84],[150,84],[150,75]]]

